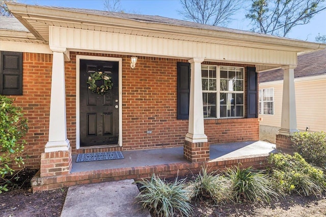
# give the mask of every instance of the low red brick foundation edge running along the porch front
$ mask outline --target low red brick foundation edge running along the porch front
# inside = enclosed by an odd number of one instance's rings
[[[40,177],[37,173],[31,180],[33,192],[46,191],[59,188],[67,188],[78,184],[97,183],[104,181],[116,181],[123,179],[140,180],[150,178],[153,173],[161,178],[185,176],[187,174],[198,174],[202,167],[208,172],[223,171],[227,167],[240,166],[247,168],[252,166],[256,169],[264,169],[267,163],[268,154],[256,154],[246,157],[235,157],[219,159],[219,161],[194,162],[194,163],[172,163],[144,167],[126,167],[117,169],[103,169],[86,172],[70,173],[51,177]]]

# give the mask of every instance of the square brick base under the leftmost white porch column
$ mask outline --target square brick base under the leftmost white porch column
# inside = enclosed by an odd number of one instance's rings
[[[40,177],[68,175],[71,166],[71,147],[68,151],[41,153]]]

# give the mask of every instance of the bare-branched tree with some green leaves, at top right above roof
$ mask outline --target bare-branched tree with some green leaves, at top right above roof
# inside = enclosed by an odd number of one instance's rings
[[[296,25],[309,23],[320,11],[325,0],[252,0],[246,14],[252,30],[257,33],[285,37]]]

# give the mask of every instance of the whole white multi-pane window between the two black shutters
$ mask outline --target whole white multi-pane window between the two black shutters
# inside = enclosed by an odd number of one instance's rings
[[[202,66],[205,118],[243,117],[243,68]]]

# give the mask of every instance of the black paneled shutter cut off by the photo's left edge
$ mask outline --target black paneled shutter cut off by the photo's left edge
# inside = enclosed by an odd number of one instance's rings
[[[22,53],[0,52],[0,94],[22,95]]]

